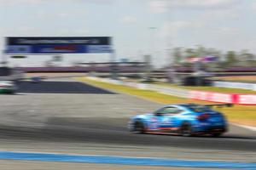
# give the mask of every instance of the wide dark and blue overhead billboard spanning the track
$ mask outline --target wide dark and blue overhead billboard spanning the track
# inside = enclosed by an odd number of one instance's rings
[[[6,54],[112,53],[111,37],[6,37]]]

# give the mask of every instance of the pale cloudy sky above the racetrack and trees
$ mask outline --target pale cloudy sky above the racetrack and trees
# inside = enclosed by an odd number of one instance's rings
[[[0,50],[4,37],[110,36],[118,59],[152,54],[154,65],[174,47],[256,54],[255,16],[256,0],[0,0]]]

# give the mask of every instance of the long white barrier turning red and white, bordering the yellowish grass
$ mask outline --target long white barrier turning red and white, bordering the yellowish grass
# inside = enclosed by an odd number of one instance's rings
[[[238,105],[256,105],[256,94],[223,94],[215,92],[205,92],[199,90],[187,90],[183,88],[169,88],[159,85],[125,82],[121,80],[113,80],[109,78],[89,77],[92,80],[100,82],[109,82],[117,85],[125,85],[132,88],[153,90],[160,94],[173,95],[185,99],[199,99],[218,103],[231,103]]]

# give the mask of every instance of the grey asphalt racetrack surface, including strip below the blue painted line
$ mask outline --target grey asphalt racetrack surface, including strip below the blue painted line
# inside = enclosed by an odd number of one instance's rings
[[[154,111],[162,105],[72,79],[19,82],[17,94],[0,95],[0,105],[0,150],[256,161],[256,133],[253,131],[231,125],[230,132],[220,138],[133,134],[126,127],[129,117]],[[42,161],[0,162],[1,169],[47,166],[45,169],[164,169]]]

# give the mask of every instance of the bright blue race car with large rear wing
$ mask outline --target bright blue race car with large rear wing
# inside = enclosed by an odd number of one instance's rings
[[[133,133],[211,134],[218,137],[227,132],[227,122],[222,113],[212,110],[213,106],[232,105],[166,105],[153,113],[131,117],[128,127]]]

